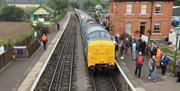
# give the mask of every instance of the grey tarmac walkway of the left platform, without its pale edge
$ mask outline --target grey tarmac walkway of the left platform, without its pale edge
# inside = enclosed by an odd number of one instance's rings
[[[48,34],[48,44],[56,34],[57,31]],[[17,58],[7,68],[1,71],[0,91],[16,91],[44,51],[43,46],[40,46],[30,58]]]

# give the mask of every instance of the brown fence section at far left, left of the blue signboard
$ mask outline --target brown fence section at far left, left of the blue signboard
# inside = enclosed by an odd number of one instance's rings
[[[12,61],[13,55],[13,48],[0,55],[0,69],[6,66],[6,64],[8,64],[10,61]]]

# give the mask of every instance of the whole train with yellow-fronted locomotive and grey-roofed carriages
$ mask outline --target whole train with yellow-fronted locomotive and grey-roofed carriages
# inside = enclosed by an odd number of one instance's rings
[[[75,9],[75,14],[80,22],[87,67],[92,71],[115,69],[115,43],[110,33],[85,11]]]

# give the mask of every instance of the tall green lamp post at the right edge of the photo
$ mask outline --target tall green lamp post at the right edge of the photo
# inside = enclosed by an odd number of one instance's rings
[[[176,33],[176,48],[175,48],[175,53],[174,53],[174,61],[173,61],[173,75],[175,75],[175,66],[176,66],[176,56],[177,56],[177,46],[178,46],[178,37],[180,36],[180,27],[175,28],[175,33]]]

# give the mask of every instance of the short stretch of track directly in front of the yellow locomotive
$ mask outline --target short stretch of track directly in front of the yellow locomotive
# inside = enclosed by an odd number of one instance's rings
[[[93,91],[121,91],[119,83],[115,80],[114,74],[96,73],[91,74]]]

